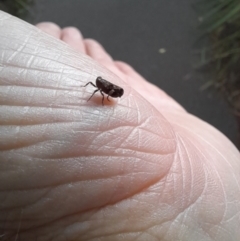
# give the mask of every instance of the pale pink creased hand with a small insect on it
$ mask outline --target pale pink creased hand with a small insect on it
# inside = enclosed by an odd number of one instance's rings
[[[0,240],[240,240],[218,130],[74,27],[0,12],[0,53]],[[97,76],[122,98],[87,102]]]

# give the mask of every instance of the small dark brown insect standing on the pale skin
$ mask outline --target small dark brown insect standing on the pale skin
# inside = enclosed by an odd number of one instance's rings
[[[86,85],[84,85],[82,87],[86,87],[89,84],[96,87],[97,89],[93,92],[93,94],[90,96],[90,98],[87,101],[89,101],[97,91],[100,91],[101,95],[103,96],[102,105],[104,105],[103,104],[103,101],[104,101],[103,93],[108,95],[107,99],[109,96],[111,96],[113,98],[121,97],[124,93],[123,88],[110,83],[109,81],[103,79],[100,76],[96,78],[96,85],[93,84],[92,82],[88,82]],[[110,100],[108,99],[108,101],[110,101]]]

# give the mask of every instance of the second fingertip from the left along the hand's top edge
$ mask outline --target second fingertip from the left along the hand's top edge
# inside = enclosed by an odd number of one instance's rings
[[[85,44],[81,32],[74,27],[67,27],[62,30],[61,39],[81,53],[86,53]]]

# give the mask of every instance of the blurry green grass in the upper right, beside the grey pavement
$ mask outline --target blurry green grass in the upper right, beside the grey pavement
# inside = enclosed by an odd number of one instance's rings
[[[194,5],[200,15],[201,37],[208,44],[198,51],[198,69],[212,70],[214,85],[221,90],[235,113],[240,113],[240,1],[200,0]]]

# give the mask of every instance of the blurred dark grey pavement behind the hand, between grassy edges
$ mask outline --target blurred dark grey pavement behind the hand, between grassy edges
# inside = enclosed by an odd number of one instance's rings
[[[208,79],[193,69],[198,16],[192,4],[196,1],[35,0],[26,20],[79,28],[84,37],[99,41],[114,59],[132,65],[236,144],[234,116],[214,89],[200,91]],[[166,53],[161,54],[161,48]]]

